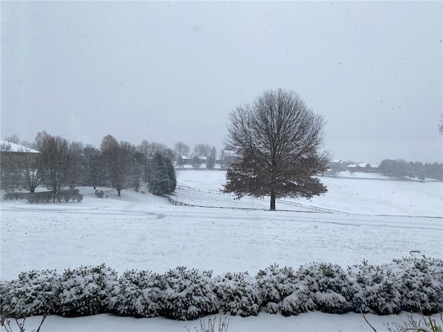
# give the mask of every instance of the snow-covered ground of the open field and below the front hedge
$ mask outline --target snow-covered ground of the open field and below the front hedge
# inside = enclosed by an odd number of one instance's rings
[[[326,261],[346,267],[367,259],[383,264],[409,256],[411,250],[443,258],[442,183],[323,178],[329,188],[325,196],[311,201],[284,199],[277,209],[292,211],[269,212],[268,199],[235,200],[219,194],[224,174],[179,171],[177,181],[183,187],[172,196],[183,203],[218,208],[175,206],[167,199],[132,191],[123,191],[120,199],[107,190],[108,197],[98,199],[87,187],[80,187],[81,203],[2,200],[1,279],[13,279],[23,270],[102,263],[118,273],[128,268],[163,273],[187,266],[213,270],[214,275],[228,271],[255,275],[274,263],[298,268]],[[260,210],[227,209],[231,207]],[[347,213],[321,213],[312,207]],[[29,317],[28,329],[35,328],[39,318]],[[400,318],[368,315],[378,331],[386,331],[383,322]],[[199,322],[51,316],[42,331],[186,331],[185,325],[194,331]],[[228,331],[372,329],[356,314],[314,312],[230,317]]]

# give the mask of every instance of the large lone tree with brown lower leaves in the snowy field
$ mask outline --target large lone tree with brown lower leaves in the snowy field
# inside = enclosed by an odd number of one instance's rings
[[[327,170],[322,152],[325,120],[293,91],[264,91],[251,104],[237,107],[228,119],[226,144],[239,163],[226,172],[224,192],[237,197],[310,198],[327,192],[316,174]]]

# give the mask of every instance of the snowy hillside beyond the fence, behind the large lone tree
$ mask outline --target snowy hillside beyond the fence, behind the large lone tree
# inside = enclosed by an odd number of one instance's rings
[[[177,201],[196,205],[217,203],[246,208],[269,208],[269,199],[243,198],[234,201],[234,196],[215,195],[225,183],[223,171],[179,171],[176,192]],[[387,178],[379,174],[354,174],[355,177],[372,176]],[[402,216],[443,216],[443,183],[401,182],[376,180],[348,180],[345,178],[321,178],[328,192],[307,199],[282,199],[277,202],[278,210],[300,210],[284,202],[295,202],[302,207],[318,207],[356,214],[390,214]],[[197,190],[197,191],[196,191]],[[212,195],[207,195],[208,193]],[[219,205],[217,205],[219,206]]]

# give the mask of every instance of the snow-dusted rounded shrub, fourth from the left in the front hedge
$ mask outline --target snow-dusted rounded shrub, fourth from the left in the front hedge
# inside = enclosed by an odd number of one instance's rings
[[[174,320],[195,320],[220,309],[212,273],[180,266],[162,276],[162,315]]]

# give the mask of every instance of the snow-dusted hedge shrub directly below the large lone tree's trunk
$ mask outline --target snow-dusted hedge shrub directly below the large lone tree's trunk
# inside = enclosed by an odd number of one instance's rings
[[[262,295],[264,310],[267,313],[298,315],[313,305],[309,292],[294,273],[293,268],[279,268],[274,264],[260,270],[255,276]]]

